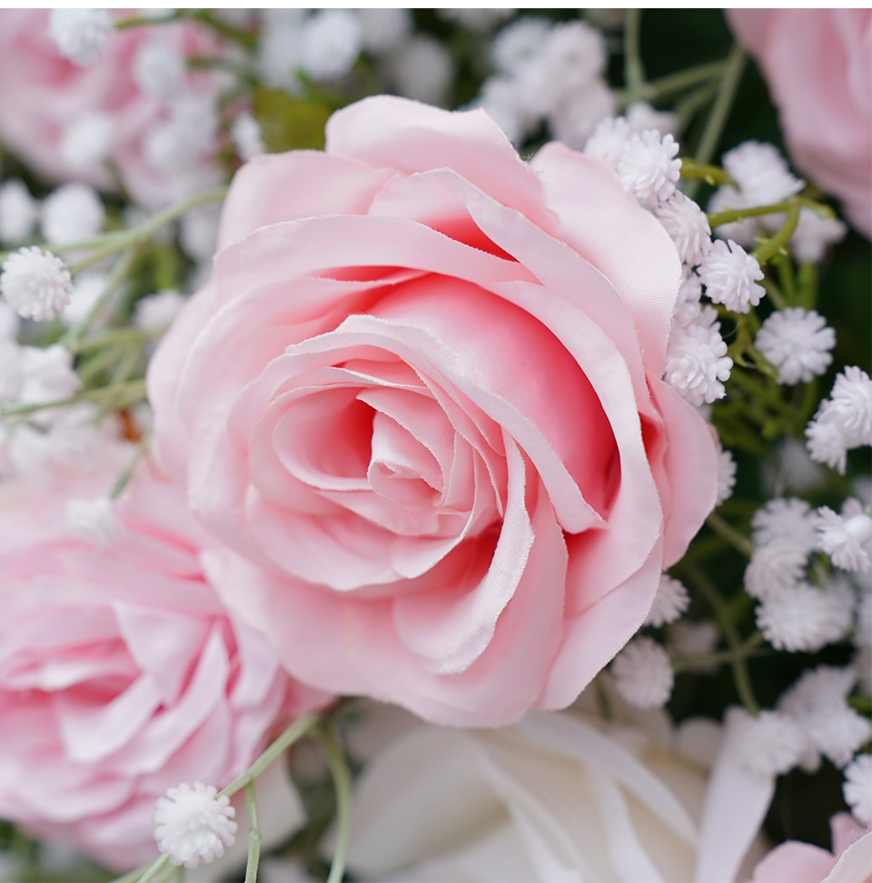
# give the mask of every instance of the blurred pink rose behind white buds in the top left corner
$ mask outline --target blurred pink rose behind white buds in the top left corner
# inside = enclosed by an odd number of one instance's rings
[[[115,15],[120,17],[117,11]],[[104,114],[108,158],[134,199],[153,207],[184,195],[187,183],[173,180],[165,165],[156,167],[146,149],[147,135],[170,116],[169,101],[178,99],[183,89],[175,89],[165,101],[145,94],[136,83],[134,66],[153,41],[183,55],[203,53],[214,41],[193,25],[134,27],[111,34],[103,53],[83,67],[60,55],[48,25],[45,9],[0,10],[0,142],[51,184],[84,181],[114,190],[116,182],[103,160],[88,160],[87,149],[64,148],[71,126]],[[193,94],[214,92],[212,79],[204,74],[187,75],[183,84]],[[87,142],[82,131],[80,140]],[[209,134],[202,135],[211,146]],[[74,153],[82,154],[81,162],[73,161]]]

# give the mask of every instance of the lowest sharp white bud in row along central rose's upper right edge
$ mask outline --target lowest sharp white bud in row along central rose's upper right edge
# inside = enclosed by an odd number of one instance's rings
[[[693,322],[673,326],[669,334],[663,379],[697,407],[723,398],[733,366],[715,315],[708,307]]]

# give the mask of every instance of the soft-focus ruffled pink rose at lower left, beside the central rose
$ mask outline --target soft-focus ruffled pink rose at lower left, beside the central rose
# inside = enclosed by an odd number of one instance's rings
[[[0,818],[131,868],[157,857],[166,789],[223,787],[324,697],[228,619],[177,488],[137,478],[102,550],[71,535],[65,496],[0,487]]]

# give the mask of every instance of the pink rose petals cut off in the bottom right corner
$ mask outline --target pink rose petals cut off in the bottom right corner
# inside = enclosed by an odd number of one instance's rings
[[[751,883],[869,883],[872,880],[872,831],[847,812],[830,819],[833,851],[788,840],[754,868]]]

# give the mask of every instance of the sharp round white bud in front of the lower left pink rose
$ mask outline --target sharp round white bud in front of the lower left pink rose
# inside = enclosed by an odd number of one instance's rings
[[[213,785],[180,785],[159,798],[154,809],[154,839],[173,865],[196,868],[221,858],[236,839],[236,810]]]

